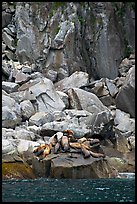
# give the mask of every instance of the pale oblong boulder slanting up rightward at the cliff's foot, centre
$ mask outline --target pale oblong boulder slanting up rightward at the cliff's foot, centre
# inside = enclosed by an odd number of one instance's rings
[[[88,81],[89,78],[87,73],[76,71],[71,76],[55,83],[55,88],[57,91],[66,92],[70,88],[79,88],[81,86],[84,86],[88,84]]]

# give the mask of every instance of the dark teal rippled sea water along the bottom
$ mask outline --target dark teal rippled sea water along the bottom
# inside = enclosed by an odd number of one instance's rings
[[[135,202],[135,178],[3,180],[3,202]]]

